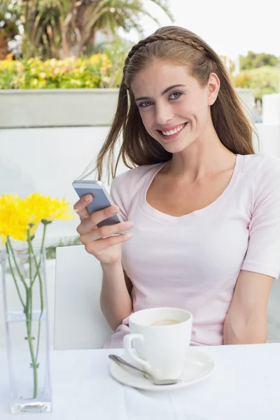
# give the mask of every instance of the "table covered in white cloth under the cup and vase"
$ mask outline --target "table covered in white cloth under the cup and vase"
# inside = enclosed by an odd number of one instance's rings
[[[212,374],[169,393],[139,391],[109,373],[116,350],[52,351],[53,412],[25,420],[279,420],[280,344],[203,346],[215,361]],[[0,353],[0,419],[8,407],[6,353]],[[20,416],[17,416],[20,419]]]

